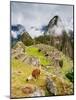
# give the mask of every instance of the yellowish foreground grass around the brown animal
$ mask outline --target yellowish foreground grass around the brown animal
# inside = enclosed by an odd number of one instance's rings
[[[38,87],[40,87],[40,86],[45,87],[46,71],[43,71],[43,70],[41,70],[41,73],[40,73],[40,76],[38,77],[38,79],[31,80],[29,82],[26,81],[28,76],[31,75],[32,70],[34,68],[35,68],[34,66],[25,64],[25,63],[21,62],[20,60],[12,59],[12,75],[11,75],[11,79],[12,79],[11,80],[11,90],[12,90],[11,94],[12,94],[12,97],[27,97],[27,96],[29,96],[27,94],[24,94],[21,90],[21,88],[24,87],[26,84],[33,84],[33,85],[36,85]],[[60,76],[60,77],[62,77],[62,76]],[[60,77],[58,77],[58,76],[55,76],[55,77],[51,76],[50,77],[50,78],[53,78],[53,81],[56,84],[56,87],[58,89],[58,95],[64,93],[62,84],[66,85],[67,82],[68,82],[67,85],[70,84],[70,82],[67,79],[63,79],[64,83],[62,83]],[[69,93],[70,88],[67,91]],[[46,95],[48,95],[48,94],[46,93]]]

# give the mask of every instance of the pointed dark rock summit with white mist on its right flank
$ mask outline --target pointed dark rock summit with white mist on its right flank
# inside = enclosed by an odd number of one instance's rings
[[[62,35],[63,30],[65,29],[61,18],[58,15],[54,16],[48,24],[47,33],[50,35],[58,36]]]

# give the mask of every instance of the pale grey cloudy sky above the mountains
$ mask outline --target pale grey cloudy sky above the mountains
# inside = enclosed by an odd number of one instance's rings
[[[32,37],[42,34],[42,26],[55,15],[73,30],[73,6],[11,2],[11,25],[22,24]]]

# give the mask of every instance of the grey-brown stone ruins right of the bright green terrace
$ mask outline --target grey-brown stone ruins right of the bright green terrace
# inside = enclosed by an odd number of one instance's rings
[[[63,67],[63,60],[61,59],[61,54],[57,49],[50,49],[49,45],[44,44],[37,45],[37,47],[39,48],[40,52],[42,52],[45,57],[52,62],[53,66]]]

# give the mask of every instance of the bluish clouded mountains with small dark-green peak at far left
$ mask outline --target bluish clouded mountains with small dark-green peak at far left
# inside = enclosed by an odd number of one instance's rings
[[[21,24],[11,26],[11,43],[14,46],[18,41],[22,41],[25,45],[32,44],[32,38]]]

